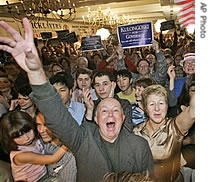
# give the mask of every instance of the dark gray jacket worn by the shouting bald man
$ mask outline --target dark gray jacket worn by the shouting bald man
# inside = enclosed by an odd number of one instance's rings
[[[48,83],[32,86],[31,97],[46,118],[47,126],[75,154],[77,181],[99,182],[112,171],[111,161],[103,147],[99,128],[95,123],[82,125],[73,119],[59,94]],[[119,135],[119,171],[143,172],[153,168],[148,142],[125,129]]]

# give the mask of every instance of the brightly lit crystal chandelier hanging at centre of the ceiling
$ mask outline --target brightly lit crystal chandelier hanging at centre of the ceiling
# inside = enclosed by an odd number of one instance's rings
[[[97,11],[91,11],[91,9],[88,8],[88,15],[82,16],[82,19],[84,24],[88,24],[96,28],[106,26],[114,28],[118,25],[128,24],[131,22],[128,16],[118,16],[111,12],[110,8],[102,10],[100,6]]]

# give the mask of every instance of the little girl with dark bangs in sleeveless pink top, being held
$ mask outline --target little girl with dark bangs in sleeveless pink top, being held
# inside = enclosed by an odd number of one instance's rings
[[[61,146],[52,155],[44,155],[36,125],[31,116],[22,111],[10,111],[0,122],[0,143],[10,153],[15,181],[36,182],[50,178],[46,164],[59,161],[67,148]]]

